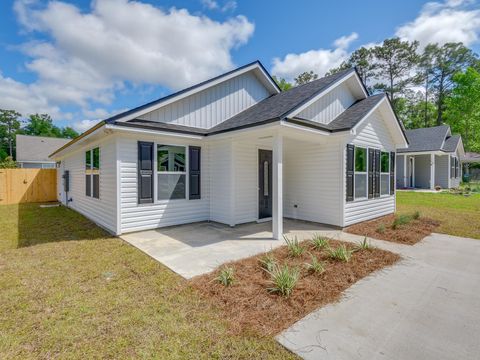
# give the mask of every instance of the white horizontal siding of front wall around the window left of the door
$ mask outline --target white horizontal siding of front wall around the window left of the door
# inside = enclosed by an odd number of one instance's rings
[[[122,233],[209,219],[209,154],[208,147],[205,144],[195,139],[168,136],[119,136],[117,141],[120,164],[120,223]],[[187,190],[186,199],[157,200],[157,174],[154,171],[154,202],[138,204],[138,141],[154,143],[155,170],[157,144],[200,146],[202,151],[201,199],[189,200]],[[188,149],[186,151],[188,153]]]

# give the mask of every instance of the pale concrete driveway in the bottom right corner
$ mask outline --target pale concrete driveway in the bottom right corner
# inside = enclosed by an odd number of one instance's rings
[[[480,240],[432,234],[415,246],[376,244],[404,260],[277,340],[304,359],[480,358]]]

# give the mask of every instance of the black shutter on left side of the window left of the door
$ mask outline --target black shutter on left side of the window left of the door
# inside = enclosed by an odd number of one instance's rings
[[[153,203],[153,143],[138,142],[138,203]]]

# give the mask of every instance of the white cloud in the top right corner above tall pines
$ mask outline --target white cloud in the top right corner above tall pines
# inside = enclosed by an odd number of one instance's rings
[[[409,41],[418,40],[421,48],[429,43],[463,42],[467,46],[477,43],[480,10],[472,8],[473,3],[468,0],[427,3],[417,18],[400,26],[395,35]]]

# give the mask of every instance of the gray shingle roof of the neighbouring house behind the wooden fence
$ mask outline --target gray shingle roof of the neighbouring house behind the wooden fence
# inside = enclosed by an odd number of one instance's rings
[[[17,161],[52,161],[48,156],[72,139],[17,135]]]

